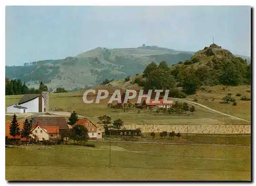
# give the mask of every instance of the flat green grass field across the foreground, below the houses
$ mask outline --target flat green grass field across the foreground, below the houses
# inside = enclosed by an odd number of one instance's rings
[[[7,180],[250,180],[250,147],[95,142],[6,149]]]

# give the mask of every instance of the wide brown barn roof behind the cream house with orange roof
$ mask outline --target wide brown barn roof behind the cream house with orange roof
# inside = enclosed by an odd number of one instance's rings
[[[32,119],[32,126],[38,124],[40,126],[58,126],[59,129],[69,129],[68,123],[64,117],[34,117]]]

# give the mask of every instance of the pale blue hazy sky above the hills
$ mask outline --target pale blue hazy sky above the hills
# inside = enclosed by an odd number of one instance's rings
[[[6,7],[6,65],[63,59],[100,47],[212,43],[250,56],[250,7]]]

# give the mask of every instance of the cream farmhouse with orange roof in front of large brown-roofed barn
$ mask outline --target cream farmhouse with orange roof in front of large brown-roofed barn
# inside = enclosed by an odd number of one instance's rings
[[[39,141],[45,140],[56,140],[59,138],[59,127],[58,126],[40,126],[36,124],[32,128],[32,134],[30,135],[34,138],[34,135],[37,136]]]

